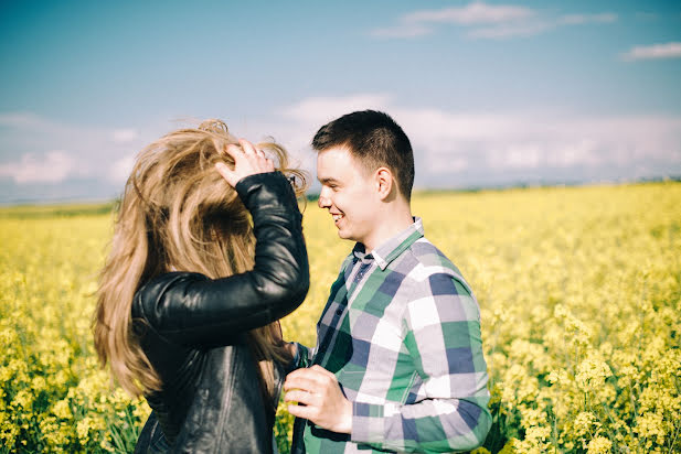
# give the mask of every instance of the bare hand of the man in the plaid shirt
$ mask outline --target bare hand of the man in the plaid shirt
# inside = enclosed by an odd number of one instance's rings
[[[320,366],[298,369],[286,376],[284,382],[287,402],[305,403],[288,406],[288,412],[312,421],[320,428],[337,433],[352,430],[352,402],[345,399],[336,376]]]

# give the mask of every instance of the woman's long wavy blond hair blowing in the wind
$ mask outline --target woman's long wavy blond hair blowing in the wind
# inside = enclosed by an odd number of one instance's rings
[[[93,329],[103,367],[108,363],[117,382],[134,396],[162,389],[132,327],[135,292],[170,271],[217,279],[254,266],[249,214],[214,169],[220,161],[234,166],[224,152],[228,143],[238,144],[220,120],[170,132],[138,154],[126,183],[110,252],[99,277]],[[302,195],[306,175],[288,167],[286,150],[274,141],[256,147],[292,180],[296,194]],[[273,361],[290,359],[278,338],[278,321],[248,333],[266,396],[274,392]]]

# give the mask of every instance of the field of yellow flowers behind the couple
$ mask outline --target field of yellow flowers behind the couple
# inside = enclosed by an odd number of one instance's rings
[[[478,452],[681,452],[681,184],[422,193],[426,236],[481,306],[494,424]],[[149,412],[89,329],[109,207],[0,209],[0,452],[126,452]],[[341,241],[305,210],[315,324]],[[279,409],[286,451],[290,417]]]

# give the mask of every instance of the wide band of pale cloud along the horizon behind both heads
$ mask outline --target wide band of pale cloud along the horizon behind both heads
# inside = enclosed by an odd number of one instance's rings
[[[418,187],[681,174],[679,116],[460,111],[407,106],[385,93],[360,93],[300,99],[274,110],[270,118],[251,122],[246,137],[257,141],[257,134],[273,136],[313,182],[315,154],[309,143],[317,129],[363,109],[386,111],[404,128],[415,151]],[[168,125],[140,128],[134,143],[120,144],[113,141],[115,129],[110,128],[63,127],[31,115],[0,115],[0,123],[13,125],[0,137],[0,180],[21,187],[41,183],[66,187],[79,179],[91,185],[83,198],[91,190],[111,195],[123,190],[135,154],[170,129]],[[43,132],[36,134],[36,130]],[[26,141],[28,148],[20,149]]]

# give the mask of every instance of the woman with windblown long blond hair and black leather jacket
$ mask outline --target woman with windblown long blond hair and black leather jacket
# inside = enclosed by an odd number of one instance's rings
[[[102,363],[153,410],[137,452],[275,447],[291,360],[278,320],[309,287],[302,185],[281,172],[305,179],[283,148],[259,148],[206,121],[143,149],[126,184],[94,332]]]

